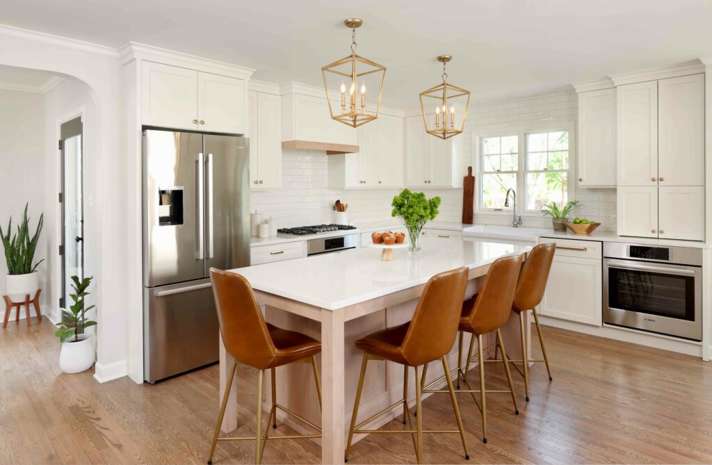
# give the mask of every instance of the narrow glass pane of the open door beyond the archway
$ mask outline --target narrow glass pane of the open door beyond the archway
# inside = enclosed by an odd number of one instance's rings
[[[72,276],[83,278],[82,136],[64,140],[64,283],[65,305],[71,305]]]

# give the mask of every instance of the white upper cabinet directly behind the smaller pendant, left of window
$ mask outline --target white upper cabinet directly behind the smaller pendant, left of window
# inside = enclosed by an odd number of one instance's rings
[[[441,140],[429,135],[425,132],[422,116],[407,117],[405,132],[408,187],[462,187],[463,137]]]

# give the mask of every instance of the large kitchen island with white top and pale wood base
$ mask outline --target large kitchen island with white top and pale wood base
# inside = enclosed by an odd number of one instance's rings
[[[470,268],[467,296],[471,296],[481,286],[493,261],[530,250],[529,246],[474,238],[458,241],[424,239],[421,245],[422,251],[415,254],[404,249],[396,250],[394,261],[381,261],[379,250],[364,248],[231,270],[250,282],[258,303],[265,305],[269,323],[298,330],[322,342],[321,413],[310,369],[300,366],[305,364],[278,368],[276,380],[278,402],[322,426],[324,464],[344,461],[345,437],[362,356],[355,348],[355,340],[372,331],[409,321],[424,284],[431,276],[467,266]],[[503,336],[511,356],[521,358],[518,318],[511,318],[503,328]],[[526,336],[529,340],[529,335]],[[466,338],[465,347],[468,341]],[[449,358],[451,366],[456,366],[456,345]],[[231,363],[231,357],[221,343],[221,393]],[[442,369],[437,369],[436,365],[439,364],[433,364],[428,372],[429,380],[442,375]],[[471,364],[471,367],[475,366]],[[230,393],[223,432],[237,427],[237,385],[233,384]],[[402,367],[388,362],[372,363],[366,375],[360,418],[370,417],[396,402],[402,392]],[[463,399],[463,402],[467,400]],[[396,414],[394,411],[391,417],[382,417],[381,422],[375,422],[372,427],[381,426]],[[306,431],[299,424],[288,424]]]

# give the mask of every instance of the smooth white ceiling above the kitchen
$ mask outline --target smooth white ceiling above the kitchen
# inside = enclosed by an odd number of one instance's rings
[[[443,53],[475,101],[712,55],[711,0],[3,0],[0,23],[321,85],[321,66],[350,53],[350,16],[365,21],[359,54],[388,67],[384,105],[401,108],[438,83]]]

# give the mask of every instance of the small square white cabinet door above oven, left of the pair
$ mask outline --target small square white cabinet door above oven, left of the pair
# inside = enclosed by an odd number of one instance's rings
[[[658,188],[619,186],[619,236],[658,236]]]

